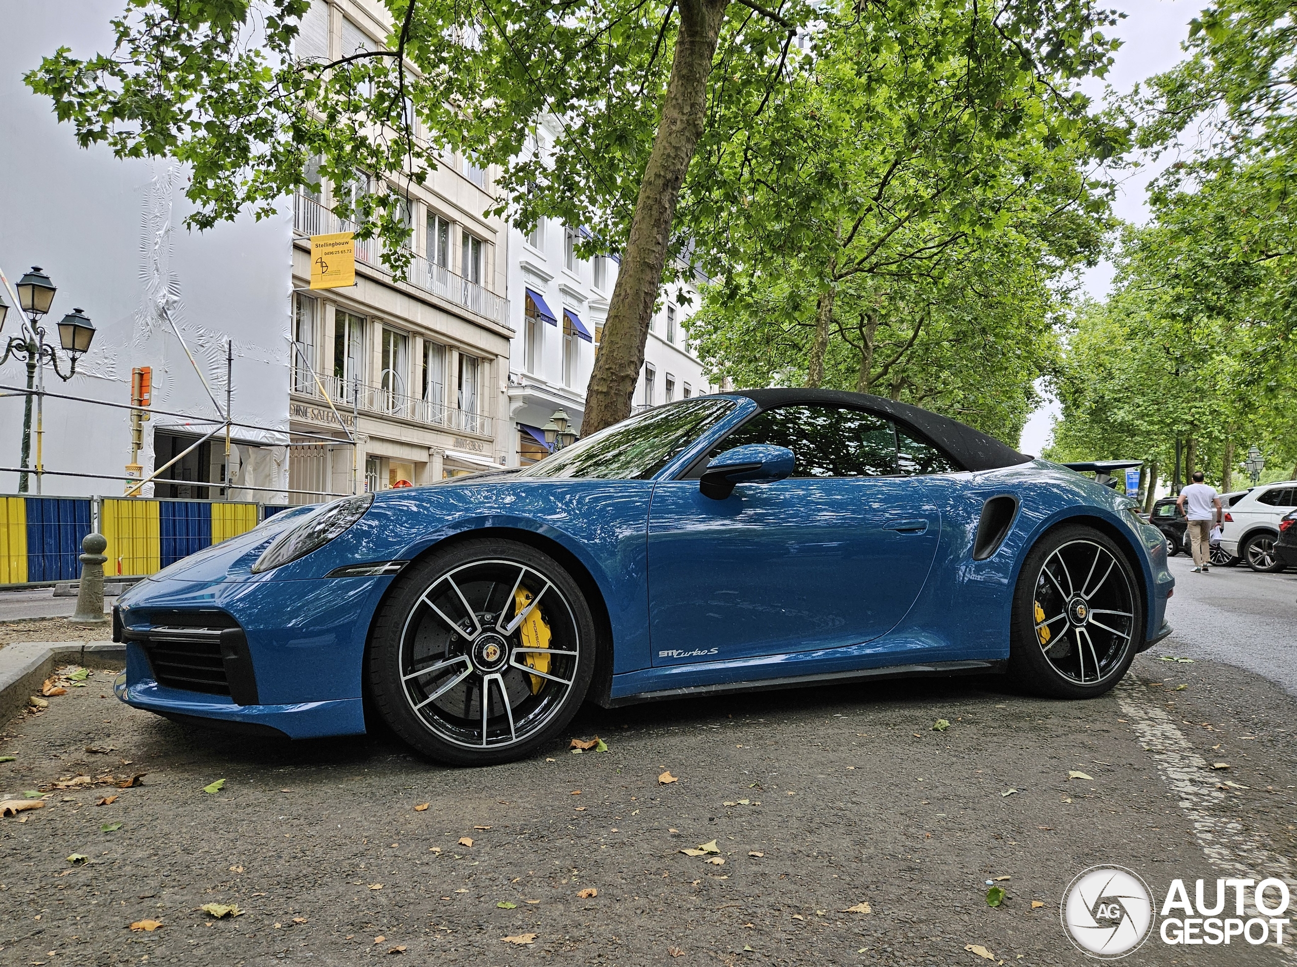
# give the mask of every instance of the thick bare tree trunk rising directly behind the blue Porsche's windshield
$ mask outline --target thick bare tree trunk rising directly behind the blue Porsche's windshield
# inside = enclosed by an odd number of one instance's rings
[[[581,434],[630,415],[645,342],[661,286],[680,187],[707,122],[707,79],[729,0],[682,0],[671,82],[648,165],[639,183],[621,271],[608,302],[599,355],[585,397]]]

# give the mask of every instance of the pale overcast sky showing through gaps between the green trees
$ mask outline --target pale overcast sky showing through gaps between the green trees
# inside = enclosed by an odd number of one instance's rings
[[[1180,44],[1189,34],[1189,19],[1205,6],[1205,0],[1109,0],[1104,5],[1126,14],[1114,31],[1124,43],[1108,76],[1084,84],[1086,93],[1096,99],[1104,96],[1109,84],[1114,91],[1126,93],[1144,78],[1160,74],[1179,61],[1184,56]],[[1144,188],[1160,170],[1147,166],[1122,172],[1123,181],[1114,205],[1118,218],[1135,223],[1148,218]],[[1112,279],[1110,263],[1096,266],[1084,275],[1086,292],[1102,298]],[[1018,445],[1022,452],[1039,454],[1048,445],[1054,414],[1057,404],[1049,401],[1031,416]]]

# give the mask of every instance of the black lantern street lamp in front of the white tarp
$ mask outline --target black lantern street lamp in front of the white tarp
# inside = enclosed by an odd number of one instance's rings
[[[27,318],[22,323],[17,336],[10,336],[5,345],[4,356],[0,356],[0,366],[8,362],[9,356],[16,356],[27,363],[27,398],[22,408],[22,463],[26,469],[31,459],[31,390],[36,397],[36,493],[40,493],[42,438],[44,436],[44,390],[45,390],[45,363],[54,368],[58,379],[66,382],[77,373],[77,358],[89,349],[95,338],[95,325],[80,309],[74,309],[58,323],[58,342],[64,351],[71,358],[67,375],[58,368],[58,354],[53,345],[45,342],[45,328],[40,320],[49,312],[49,306],[54,301],[58,290],[49,276],[40,266],[32,266],[31,271],[18,280],[18,305]],[[4,327],[5,315],[9,307],[0,309],[0,328]],[[18,493],[27,493],[27,474],[18,474]]]

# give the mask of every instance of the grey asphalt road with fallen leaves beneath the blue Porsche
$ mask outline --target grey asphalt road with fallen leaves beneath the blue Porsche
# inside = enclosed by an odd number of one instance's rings
[[[1248,657],[1254,631],[1209,634],[1222,616],[1250,614],[1281,647],[1293,582],[1258,577],[1185,574],[1176,636],[1093,701],[947,679],[588,709],[571,735],[607,753],[556,744],[486,770],[383,735],[183,728],[121,705],[96,673],[8,725],[0,792],[143,784],[54,789],[26,822],[0,819],[0,963],[987,963],[971,945],[1091,963],[1058,911],[1089,866],[1127,866],[1158,897],[1174,878],[1292,875],[1297,700],[1210,657],[1218,640]],[[1232,604],[1249,594],[1261,603]],[[712,840],[719,854],[680,852]],[[245,913],[214,920],[211,902]],[[162,927],[130,929],[144,919]],[[1130,962],[1292,963],[1156,937]]]

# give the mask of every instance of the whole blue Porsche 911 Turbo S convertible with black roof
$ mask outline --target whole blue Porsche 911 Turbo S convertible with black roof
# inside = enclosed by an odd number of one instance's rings
[[[1172,585],[1161,531],[1071,469],[877,397],[726,393],[187,557],[114,611],[118,696],[291,738],[379,716],[481,765],[588,699],[988,671],[1101,695]]]

